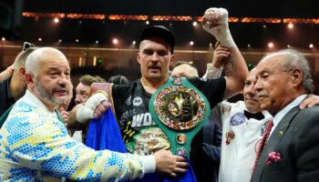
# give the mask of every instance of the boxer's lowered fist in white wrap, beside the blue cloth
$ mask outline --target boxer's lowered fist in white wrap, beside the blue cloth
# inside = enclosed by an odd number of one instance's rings
[[[90,96],[87,102],[77,110],[77,121],[86,123],[89,119],[99,118],[108,110],[108,107],[108,96],[98,92]]]

